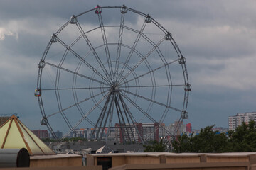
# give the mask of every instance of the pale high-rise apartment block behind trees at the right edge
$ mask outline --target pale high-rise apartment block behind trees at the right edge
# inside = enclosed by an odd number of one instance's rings
[[[242,125],[243,122],[248,124],[250,120],[256,121],[256,112],[237,113],[235,116],[229,116],[229,130],[235,130],[235,128],[238,128],[238,126]]]

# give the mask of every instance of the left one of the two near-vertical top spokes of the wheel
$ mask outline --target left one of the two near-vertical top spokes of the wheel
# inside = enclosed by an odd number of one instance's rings
[[[107,64],[108,64],[108,67],[109,67],[109,70],[110,70],[110,80],[112,80],[112,76],[114,76],[113,74],[113,67],[112,67],[112,63],[111,63],[111,59],[110,59],[110,50],[108,48],[108,45],[107,45],[107,36],[106,36],[106,33],[105,33],[105,28],[104,28],[104,24],[103,24],[103,20],[102,20],[102,15],[101,13],[97,13],[97,16],[98,16],[98,19],[99,19],[99,23],[100,23],[100,30],[101,30],[101,33],[102,33],[102,40],[103,40],[103,44],[104,44],[104,47],[105,47],[105,53],[106,53],[106,57],[107,57]],[[112,75],[112,76],[111,76]]]

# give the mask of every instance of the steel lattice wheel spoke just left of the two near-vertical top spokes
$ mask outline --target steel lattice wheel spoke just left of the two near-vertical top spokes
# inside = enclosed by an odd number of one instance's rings
[[[92,43],[90,42],[89,38],[87,37],[85,31],[82,29],[82,27],[80,26],[80,23],[78,21],[75,24],[78,27],[78,30],[80,30],[82,37],[85,39],[85,42],[87,43],[88,47],[90,47],[92,54],[95,56],[95,59],[97,60],[98,64],[100,64],[102,71],[104,72],[105,76],[107,77],[107,79],[109,79],[109,82],[110,82],[110,80],[111,80],[110,74],[107,72],[107,69],[105,68],[104,64],[102,64],[100,57],[97,55],[97,52],[95,51],[95,48],[92,46]]]

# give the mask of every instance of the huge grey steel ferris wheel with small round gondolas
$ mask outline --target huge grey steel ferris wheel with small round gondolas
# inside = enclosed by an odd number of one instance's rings
[[[53,137],[87,128],[92,140],[144,142],[160,131],[176,135],[189,91],[186,60],[169,31],[127,6],[97,6],[53,33],[35,96]],[[174,130],[164,127],[174,121]],[[144,132],[143,123],[154,128]]]

